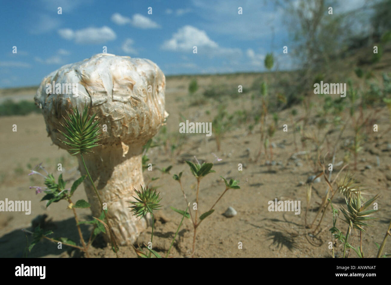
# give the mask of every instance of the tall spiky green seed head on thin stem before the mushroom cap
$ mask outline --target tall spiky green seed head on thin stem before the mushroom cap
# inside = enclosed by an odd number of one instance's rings
[[[93,186],[95,194],[98,197],[100,206],[102,207],[102,209],[104,209],[102,199],[100,198],[100,195],[95,187],[95,184],[91,178],[90,172],[87,169],[86,162],[84,161],[83,157],[83,154],[92,152],[92,148],[100,145],[98,144],[100,140],[99,121],[96,120],[94,122],[97,113],[91,116],[90,114],[91,110],[88,110],[87,104],[84,105],[83,113],[80,113],[77,107],[73,108],[71,112],[67,112],[68,118],[64,117],[65,124],[61,124],[61,126],[63,126],[63,128],[65,129],[65,132],[62,132],[61,130],[58,131],[62,135],[64,135],[66,139],[68,139],[68,141],[62,141],[60,139],[61,142],[71,147],[68,149],[68,152],[70,152],[71,155],[80,154],[84,169],[86,170],[91,185]],[[107,220],[107,225],[110,232],[111,246],[118,257],[117,242],[115,241],[113,231],[111,230],[106,211],[103,212]]]

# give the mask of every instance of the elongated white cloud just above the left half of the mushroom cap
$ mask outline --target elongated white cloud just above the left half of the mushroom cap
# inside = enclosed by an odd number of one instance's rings
[[[107,26],[101,28],[85,28],[77,31],[71,29],[61,29],[59,35],[66,40],[74,40],[75,43],[81,44],[99,44],[106,41],[112,41],[117,38],[115,32]]]

